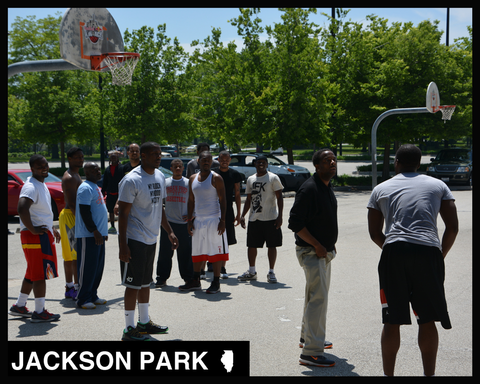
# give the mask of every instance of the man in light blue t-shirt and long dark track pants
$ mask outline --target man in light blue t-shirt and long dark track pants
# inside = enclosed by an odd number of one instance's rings
[[[108,212],[102,191],[97,186],[101,179],[95,163],[83,166],[86,181],[77,190],[75,237],[77,238],[77,269],[79,290],[77,306],[93,309],[105,304],[97,296],[105,265],[105,241],[108,240]]]

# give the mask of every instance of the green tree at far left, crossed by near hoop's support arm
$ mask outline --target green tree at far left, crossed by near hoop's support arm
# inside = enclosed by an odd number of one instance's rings
[[[9,32],[9,64],[59,59],[60,22],[60,16],[38,21],[34,16],[17,17]],[[12,77],[9,94],[22,100],[24,108],[16,126],[21,124],[22,130],[9,125],[9,133],[12,128],[16,138],[32,144],[56,147],[60,143],[60,158],[65,166],[65,142],[84,141],[95,134],[90,106],[85,103],[92,87],[92,75],[85,71],[29,72]]]

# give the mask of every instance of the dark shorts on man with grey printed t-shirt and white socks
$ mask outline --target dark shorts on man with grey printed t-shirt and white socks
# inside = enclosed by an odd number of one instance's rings
[[[150,287],[153,281],[153,262],[157,244],[145,244],[128,239],[130,262],[120,261],[122,285],[128,288],[141,289]]]

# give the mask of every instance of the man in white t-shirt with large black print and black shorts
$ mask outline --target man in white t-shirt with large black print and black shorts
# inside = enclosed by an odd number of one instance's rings
[[[247,229],[247,247],[249,269],[238,276],[239,281],[256,280],[257,272],[255,261],[257,248],[267,245],[267,254],[270,269],[267,280],[276,283],[275,262],[277,260],[277,247],[282,246],[282,215],[283,215],[283,185],[280,178],[267,170],[268,159],[258,156],[255,159],[257,172],[247,179],[247,198],[243,206],[240,224],[245,225],[245,215],[249,211]]]

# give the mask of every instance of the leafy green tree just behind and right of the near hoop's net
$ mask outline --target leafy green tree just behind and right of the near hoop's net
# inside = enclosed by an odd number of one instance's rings
[[[189,94],[183,76],[188,55],[166,25],[143,26],[124,34],[125,49],[140,53],[130,86],[107,85],[105,124],[124,141],[183,141],[190,137]]]

